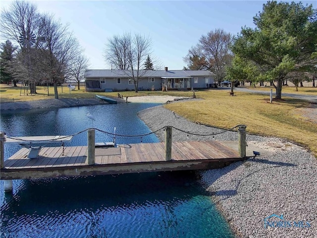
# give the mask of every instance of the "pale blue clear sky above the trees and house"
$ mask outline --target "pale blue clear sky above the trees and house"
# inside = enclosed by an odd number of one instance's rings
[[[6,8],[12,1],[0,2]],[[202,35],[221,28],[237,35],[241,27],[254,28],[253,17],[262,11],[263,0],[222,1],[106,1],[36,0],[40,12],[53,13],[69,25],[89,58],[90,69],[110,69],[105,61],[109,38],[124,33],[141,34],[152,40],[152,58],[170,70],[183,69],[183,57]],[[304,5],[317,1],[302,1]],[[1,42],[6,39],[1,39]]]

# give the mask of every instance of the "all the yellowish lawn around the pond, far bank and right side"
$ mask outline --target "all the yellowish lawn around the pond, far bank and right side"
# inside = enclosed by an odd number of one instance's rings
[[[58,90],[60,98],[91,98],[96,94],[117,96],[116,92],[87,93],[84,91],[84,88],[79,91],[71,91],[70,94],[67,87],[63,88],[63,93],[61,92],[61,88]],[[308,91],[314,93],[314,90],[314,88],[310,88]],[[12,102],[54,98],[53,87],[50,89],[50,96],[47,95],[44,88],[38,87],[37,92],[38,95],[34,96],[20,96],[20,88],[1,85],[0,99],[1,102]],[[142,95],[173,95],[176,97],[192,95],[192,92],[178,91],[119,93],[129,97]],[[203,100],[171,103],[166,104],[165,107],[191,121],[220,128],[231,128],[238,124],[246,124],[248,133],[285,138],[310,148],[315,156],[317,155],[317,124],[307,121],[298,114],[298,108],[311,108],[316,107],[316,105],[300,99],[286,97],[283,100],[269,103],[269,96],[267,95],[236,92],[236,96],[229,96],[229,91],[224,90],[199,91],[195,92],[195,94]]]

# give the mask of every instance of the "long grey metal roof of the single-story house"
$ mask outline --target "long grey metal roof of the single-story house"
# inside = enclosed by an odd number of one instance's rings
[[[134,75],[137,71],[134,70]],[[208,70],[140,70],[139,75],[142,78],[148,77],[194,77],[194,76],[212,76],[213,74]],[[132,72],[130,70],[118,69],[87,69],[85,71],[85,78],[131,78]]]

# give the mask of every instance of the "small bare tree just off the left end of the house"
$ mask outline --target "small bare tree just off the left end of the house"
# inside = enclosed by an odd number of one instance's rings
[[[82,53],[77,55],[69,65],[68,77],[77,82],[78,90],[80,90],[80,81],[84,79],[84,73],[88,66],[89,60]]]

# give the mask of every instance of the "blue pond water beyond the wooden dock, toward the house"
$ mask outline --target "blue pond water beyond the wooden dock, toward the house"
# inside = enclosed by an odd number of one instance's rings
[[[113,105],[95,105],[70,108],[14,110],[1,112],[0,130],[8,136],[56,136],[72,135],[93,127],[92,120],[87,117],[89,111],[95,118],[94,127],[102,131],[121,135],[140,135],[151,132],[137,117],[137,112],[158,103],[123,103]],[[96,131],[96,142],[111,142],[111,135]],[[118,137],[116,143],[140,143],[141,138]],[[143,143],[159,142],[151,134],[142,138]],[[57,144],[58,145],[58,144]],[[72,145],[87,145],[87,132],[76,135]],[[56,146],[48,145],[48,146]],[[10,157],[21,148],[19,145],[6,145],[5,158]]]

